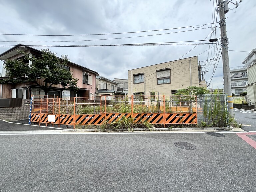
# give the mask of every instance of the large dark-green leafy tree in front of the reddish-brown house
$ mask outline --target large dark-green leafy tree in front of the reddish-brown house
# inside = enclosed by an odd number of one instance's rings
[[[62,55],[62,59],[60,59],[49,49],[42,50],[41,57],[30,56],[24,51],[18,52],[23,54],[24,58],[6,60],[7,78],[1,79],[0,84],[32,82],[44,90],[45,95],[53,85],[61,85],[64,89],[74,92],[78,90],[78,80],[73,78],[71,71],[62,67],[69,62],[67,55]],[[31,66],[27,64],[29,60],[32,61]],[[42,79],[43,84],[39,84],[39,79]]]

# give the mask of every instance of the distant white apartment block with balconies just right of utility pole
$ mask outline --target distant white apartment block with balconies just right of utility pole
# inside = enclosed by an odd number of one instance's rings
[[[248,75],[246,68],[230,69],[231,92],[235,96],[240,93],[246,92],[246,85],[248,84]]]

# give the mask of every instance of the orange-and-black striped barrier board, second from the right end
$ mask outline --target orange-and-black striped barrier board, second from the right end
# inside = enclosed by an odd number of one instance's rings
[[[140,123],[141,121],[148,121],[153,124],[163,124],[163,113],[134,113],[134,123]]]

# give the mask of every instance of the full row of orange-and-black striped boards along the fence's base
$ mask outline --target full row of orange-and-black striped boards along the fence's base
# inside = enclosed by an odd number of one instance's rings
[[[94,115],[75,115],[75,125],[101,125],[116,122],[122,117],[132,117],[131,113],[106,113]],[[134,113],[134,123],[149,122],[152,124],[197,124],[196,113]],[[49,121],[51,120],[51,121]],[[164,122],[165,121],[165,122]],[[74,125],[74,115],[32,113],[31,122]]]

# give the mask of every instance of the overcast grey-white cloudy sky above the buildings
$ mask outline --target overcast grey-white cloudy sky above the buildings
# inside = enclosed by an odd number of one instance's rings
[[[256,1],[243,0],[238,8],[233,9],[235,5],[232,3],[229,7],[229,12],[225,14],[229,50],[251,51],[256,47]],[[200,43],[198,40],[220,37],[219,24],[210,24],[219,22],[216,0],[0,0],[0,10],[1,34],[80,35],[0,35],[1,45]],[[147,32],[127,33],[138,31]],[[9,48],[0,46],[0,53]],[[204,67],[204,78],[211,82],[208,88],[223,88],[222,59],[218,62],[220,46],[216,44],[34,48],[49,48],[59,57],[68,55],[72,62],[112,80],[128,79],[130,69],[198,55]],[[247,52],[229,51],[230,68],[242,67],[247,55]],[[214,67],[216,71],[213,74]]]

